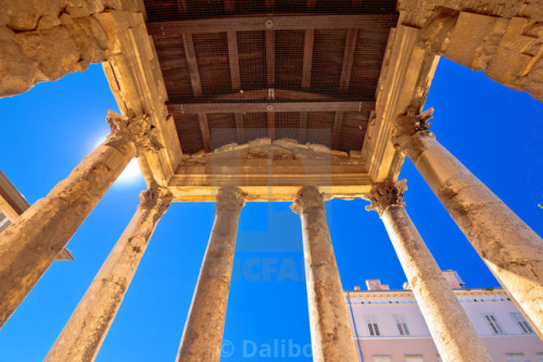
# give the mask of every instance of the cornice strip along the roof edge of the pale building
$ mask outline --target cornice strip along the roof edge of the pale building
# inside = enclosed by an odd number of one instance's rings
[[[453,290],[458,301],[464,302],[510,302],[510,298],[502,288],[473,288]],[[397,305],[416,303],[415,296],[411,290],[371,290],[345,292],[348,305]]]

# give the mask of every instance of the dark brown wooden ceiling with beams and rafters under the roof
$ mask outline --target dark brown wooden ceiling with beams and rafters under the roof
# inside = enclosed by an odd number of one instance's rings
[[[361,151],[394,0],[144,0],[182,152],[256,138]]]

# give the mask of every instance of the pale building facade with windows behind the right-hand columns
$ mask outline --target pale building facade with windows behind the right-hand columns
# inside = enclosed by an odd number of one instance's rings
[[[496,362],[543,362],[543,342],[502,288],[464,288],[443,272]],[[390,290],[379,280],[345,292],[358,357],[364,362],[438,362],[438,349],[409,285]],[[473,361],[477,362],[477,361]]]

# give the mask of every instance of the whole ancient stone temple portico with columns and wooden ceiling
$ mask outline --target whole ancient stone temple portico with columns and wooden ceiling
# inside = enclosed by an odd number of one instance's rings
[[[541,237],[435,140],[431,109],[422,112],[440,55],[541,100],[535,1],[353,1],[331,11],[266,0],[245,11],[225,0],[216,13],[204,0],[93,2],[0,3],[0,96],[101,62],[124,114],[110,112],[108,139],[0,235],[0,327],[137,157],[149,190],[47,361],[94,360],[172,202],[216,203],[177,361],[220,359],[250,202],[293,203],[314,360],[356,361],[326,221],[331,198],[369,201],[379,214],[443,361],[492,361],[404,208],[397,178],[408,157],[543,337]]]

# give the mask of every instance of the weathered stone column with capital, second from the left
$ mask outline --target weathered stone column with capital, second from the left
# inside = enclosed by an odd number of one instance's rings
[[[140,194],[141,203],[45,361],[93,361],[123,302],[159,220],[173,195],[166,188]]]

